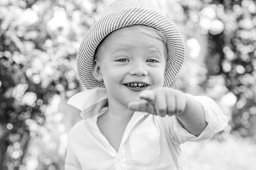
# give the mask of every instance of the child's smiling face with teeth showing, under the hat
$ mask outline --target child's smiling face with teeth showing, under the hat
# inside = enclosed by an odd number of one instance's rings
[[[103,78],[109,102],[127,106],[142,90],[163,86],[165,65],[163,41],[121,28],[103,42],[94,72]]]

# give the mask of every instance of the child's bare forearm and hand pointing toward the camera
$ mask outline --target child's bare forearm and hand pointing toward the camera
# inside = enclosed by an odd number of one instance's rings
[[[176,116],[182,126],[195,136],[207,126],[202,105],[180,90],[158,87],[139,94],[141,100],[130,102],[134,111],[146,111],[159,116]]]

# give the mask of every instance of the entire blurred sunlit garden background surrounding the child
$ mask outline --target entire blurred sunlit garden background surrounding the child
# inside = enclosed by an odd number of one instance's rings
[[[182,145],[184,170],[256,170],[256,3],[152,0],[179,28],[186,61],[173,88],[213,98],[227,132]],[[0,170],[62,170],[81,120],[76,52],[110,0],[0,0]]]

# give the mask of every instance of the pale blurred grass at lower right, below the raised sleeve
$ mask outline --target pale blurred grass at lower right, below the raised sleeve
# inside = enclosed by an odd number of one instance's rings
[[[233,135],[223,142],[186,142],[182,162],[184,170],[256,170],[256,143]]]

